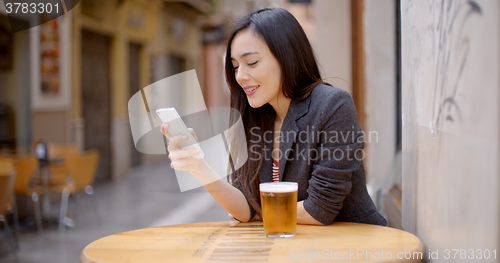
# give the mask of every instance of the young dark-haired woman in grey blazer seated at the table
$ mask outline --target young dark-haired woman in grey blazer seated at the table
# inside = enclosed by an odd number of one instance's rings
[[[299,185],[298,224],[387,225],[366,190],[364,134],[352,98],[322,82],[297,20],[281,8],[246,15],[233,26],[225,63],[248,161],[230,175],[230,183],[216,180],[204,159],[188,158],[197,151],[177,146],[187,138],[172,137],[164,125],[172,168],[191,172],[242,222],[260,219],[259,183],[293,181]]]

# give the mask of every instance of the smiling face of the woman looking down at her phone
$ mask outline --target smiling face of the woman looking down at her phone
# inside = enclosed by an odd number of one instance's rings
[[[281,67],[260,35],[245,29],[231,44],[231,61],[236,81],[245,91],[252,108],[274,105],[281,92]]]

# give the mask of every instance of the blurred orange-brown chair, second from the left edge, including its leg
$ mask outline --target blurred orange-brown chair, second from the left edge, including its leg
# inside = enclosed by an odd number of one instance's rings
[[[14,167],[17,171],[16,181],[14,183],[14,192],[17,195],[25,195],[33,201],[35,212],[35,222],[38,233],[43,230],[42,216],[40,212],[39,196],[44,193],[42,186],[31,186],[30,181],[38,169],[38,159],[35,156],[18,156],[13,160]]]

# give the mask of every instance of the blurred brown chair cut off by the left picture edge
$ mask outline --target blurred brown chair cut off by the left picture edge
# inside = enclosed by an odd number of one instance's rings
[[[7,232],[9,241],[12,245],[12,252],[14,253],[14,257],[17,261],[16,242],[10,232],[9,223],[5,218],[5,214],[7,212],[7,200],[9,199],[9,196],[12,195],[12,182],[15,177],[16,172],[14,165],[12,164],[12,160],[0,158],[0,221],[2,221],[5,226],[5,231]]]

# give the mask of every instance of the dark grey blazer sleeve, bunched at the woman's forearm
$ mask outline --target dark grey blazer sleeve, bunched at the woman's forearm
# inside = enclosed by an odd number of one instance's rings
[[[333,222],[352,188],[364,157],[364,133],[351,95],[332,92],[319,110],[321,123],[304,209],[324,225]]]

